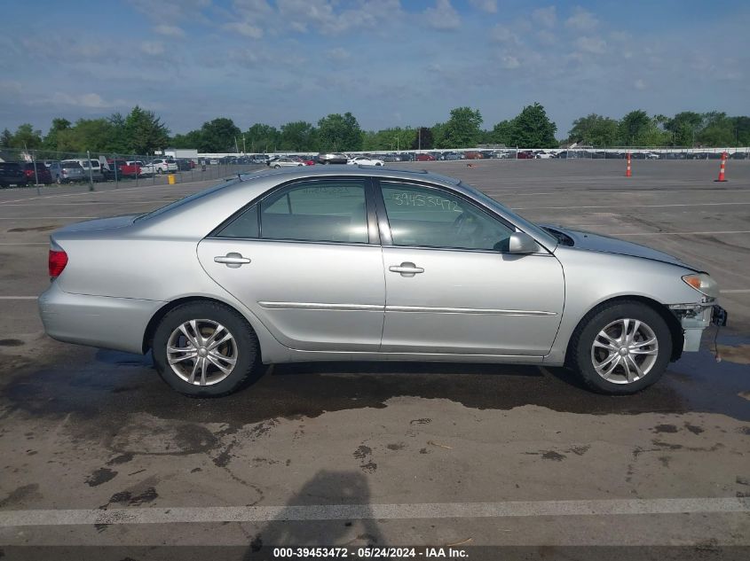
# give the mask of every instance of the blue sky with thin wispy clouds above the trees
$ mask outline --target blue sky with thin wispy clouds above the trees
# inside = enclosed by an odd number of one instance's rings
[[[750,114],[750,3],[502,0],[0,1],[0,129],[141,105],[173,133],[225,116],[364,129],[470,105]]]

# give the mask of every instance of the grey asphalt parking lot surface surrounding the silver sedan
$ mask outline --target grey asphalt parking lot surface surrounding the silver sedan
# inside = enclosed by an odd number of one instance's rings
[[[713,160],[634,160],[630,178],[620,160],[392,166],[460,177],[534,222],[699,264],[729,311],[721,362],[712,329],[701,352],[628,397],[588,393],[564,369],[316,363],[190,400],[149,356],[46,338],[36,295],[49,284],[52,230],[215,182],[0,191],[0,549],[221,545],[234,546],[224,558],[250,558],[280,543],[460,544],[557,558],[646,545],[746,556],[750,162],[730,161],[728,183],[714,183]]]

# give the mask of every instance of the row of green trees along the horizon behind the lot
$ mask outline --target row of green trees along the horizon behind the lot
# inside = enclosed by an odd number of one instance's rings
[[[524,148],[556,148],[560,144],[591,146],[747,146],[750,117],[726,113],[682,112],[674,117],[643,110],[612,119],[596,113],[573,121],[564,141],[557,125],[539,103],[527,105],[513,119],[483,129],[478,109],[456,107],[445,122],[431,127],[363,130],[351,113],[331,113],[317,123],[292,121],[280,128],[255,123],[242,130],[232,119],[219,117],[200,129],[170,136],[161,117],[139,106],[127,115],[113,113],[75,123],[56,118],[46,135],[22,124],[0,133],[0,148],[50,152],[109,152],[151,154],[167,147],[197,148],[199,152],[359,152],[474,148],[504,144]]]

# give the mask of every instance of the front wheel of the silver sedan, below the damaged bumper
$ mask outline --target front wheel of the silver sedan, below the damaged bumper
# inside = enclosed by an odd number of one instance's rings
[[[672,355],[672,334],[654,308],[620,300],[591,310],[573,334],[569,351],[568,363],[586,386],[624,395],[661,378]]]

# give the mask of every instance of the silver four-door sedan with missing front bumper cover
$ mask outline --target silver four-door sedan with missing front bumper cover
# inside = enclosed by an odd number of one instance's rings
[[[192,396],[261,363],[353,360],[567,365],[633,393],[726,321],[714,280],[666,253],[384,168],[267,170],[70,225],[49,267],[52,338],[151,350]]]

